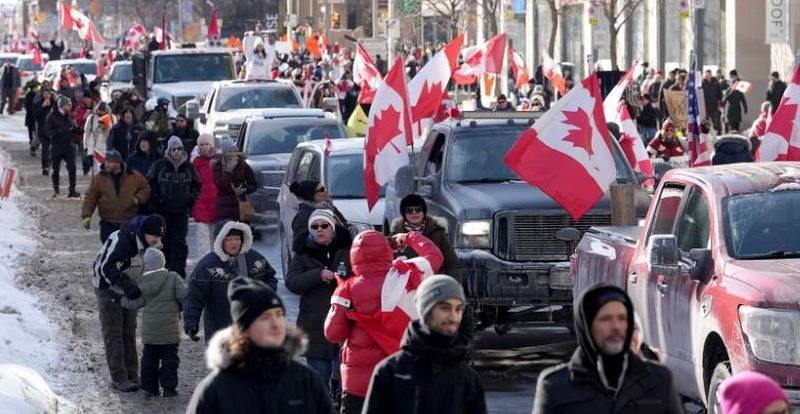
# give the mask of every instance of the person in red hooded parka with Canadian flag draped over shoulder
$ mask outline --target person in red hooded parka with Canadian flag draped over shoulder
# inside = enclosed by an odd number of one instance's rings
[[[396,234],[392,240],[399,247],[410,246],[419,257],[395,260],[394,251],[383,233],[363,231],[355,237],[350,249],[354,276],[337,279],[338,286],[331,296],[324,332],[328,341],[343,344],[343,413],[361,412],[373,368],[397,352],[408,326],[407,318],[381,312],[387,275],[392,271],[414,272],[424,278],[437,272],[444,260],[439,248],[422,233]]]

